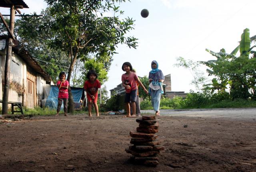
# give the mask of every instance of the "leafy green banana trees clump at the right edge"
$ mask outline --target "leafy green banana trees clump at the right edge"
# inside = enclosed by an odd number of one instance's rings
[[[222,86],[220,89],[212,87],[213,89],[223,92],[229,85],[233,100],[256,98],[256,58],[255,51],[252,51],[256,45],[250,47],[255,38],[256,36],[250,38],[249,29],[246,28],[241,35],[240,44],[230,54],[226,53],[225,49],[221,49],[219,53],[206,49],[217,59],[201,63],[209,67],[207,69],[209,75],[217,77],[212,81],[212,86],[216,86],[216,81]],[[238,51],[240,55],[236,57]]]

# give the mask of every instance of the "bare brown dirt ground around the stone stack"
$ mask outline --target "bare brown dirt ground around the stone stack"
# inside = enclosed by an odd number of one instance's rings
[[[31,117],[0,124],[2,172],[256,172],[255,119],[160,116],[156,167],[124,150],[136,118]],[[188,127],[184,127],[187,124]]]

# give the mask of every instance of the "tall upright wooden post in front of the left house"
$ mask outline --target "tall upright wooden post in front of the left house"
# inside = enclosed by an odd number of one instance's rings
[[[13,34],[13,31],[14,31],[14,18],[15,18],[15,9],[14,9],[14,5],[12,5],[12,7],[10,8],[10,24],[9,24],[11,34]],[[2,114],[7,114],[8,112],[8,96],[9,96],[9,88],[10,88],[10,63],[12,59],[12,44],[13,44],[11,34],[10,33],[8,34],[8,41],[6,45]]]

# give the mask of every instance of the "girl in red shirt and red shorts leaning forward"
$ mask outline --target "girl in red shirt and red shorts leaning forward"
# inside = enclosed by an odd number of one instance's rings
[[[95,70],[89,70],[87,76],[88,80],[84,82],[84,89],[86,90],[86,97],[88,100],[88,113],[89,117],[92,117],[92,104],[96,111],[96,116],[99,115],[99,109],[97,105],[98,100],[98,89],[100,88],[100,81],[97,80],[97,73]]]

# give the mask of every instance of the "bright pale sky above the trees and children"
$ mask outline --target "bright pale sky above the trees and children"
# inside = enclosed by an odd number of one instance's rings
[[[20,11],[25,14],[40,13],[47,6],[43,0],[24,2],[29,9]],[[256,12],[251,8],[256,6],[255,0],[131,0],[119,6],[124,11],[122,18],[129,16],[136,20],[134,30],[128,35],[138,38],[138,47],[118,45],[109,79],[103,84],[107,90],[121,83],[124,62],[130,62],[139,76],[148,76],[153,60],[164,75],[171,74],[172,91],[196,90],[190,84],[193,79],[190,71],[174,67],[177,57],[213,60],[206,48],[214,52],[224,48],[231,53],[245,28],[250,29],[250,36],[256,35]],[[140,16],[142,9],[149,11],[147,18]],[[9,14],[7,8],[0,8],[0,12]]]

